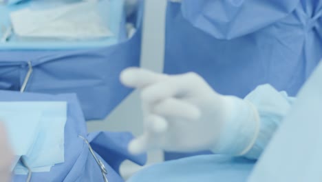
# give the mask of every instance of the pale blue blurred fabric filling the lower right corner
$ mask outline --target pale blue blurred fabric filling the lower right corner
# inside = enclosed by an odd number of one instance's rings
[[[290,113],[250,176],[257,181],[321,181],[322,62],[301,88]]]

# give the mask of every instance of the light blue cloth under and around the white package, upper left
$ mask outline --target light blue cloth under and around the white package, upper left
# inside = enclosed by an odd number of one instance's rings
[[[8,28],[10,25],[10,11],[29,7],[30,4],[33,5],[32,0],[12,6],[0,6],[0,26]],[[92,41],[17,41],[13,35],[7,43],[0,43],[0,50],[70,50],[116,44],[124,40],[126,36],[126,32],[123,30],[125,29],[123,5],[123,0],[98,1],[98,14],[100,14],[109,30],[113,32],[114,37]],[[0,32],[0,37],[2,34],[3,32]]]

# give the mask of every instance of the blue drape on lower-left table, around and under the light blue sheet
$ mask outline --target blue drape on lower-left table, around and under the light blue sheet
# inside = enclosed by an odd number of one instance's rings
[[[98,132],[87,135],[83,112],[75,94],[21,94],[19,92],[0,91],[0,101],[67,101],[65,163],[54,165],[50,172],[34,172],[32,181],[103,181],[98,164],[89,152],[87,144],[78,135],[84,136],[89,142],[93,143],[92,147],[95,151],[99,147],[99,152],[106,152],[103,158],[97,153],[96,156],[103,161],[105,168],[107,168],[107,179],[109,181],[123,181],[118,174],[118,167],[124,159],[140,164],[145,161],[144,155],[131,156],[126,152],[127,144],[133,138],[127,132]],[[26,178],[26,175],[14,175],[12,180],[25,181]]]

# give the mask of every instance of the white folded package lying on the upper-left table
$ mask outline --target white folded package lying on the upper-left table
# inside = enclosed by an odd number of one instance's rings
[[[23,8],[11,12],[10,19],[14,33],[25,38],[100,39],[113,36],[97,9],[97,2],[81,1],[54,8]]]

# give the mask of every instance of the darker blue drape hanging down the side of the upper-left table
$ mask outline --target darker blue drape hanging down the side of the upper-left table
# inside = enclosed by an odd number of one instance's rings
[[[76,92],[86,119],[102,119],[130,92],[118,79],[121,70],[138,65],[138,60],[126,59],[133,52],[106,59],[119,53],[114,49],[1,51],[0,81],[6,83],[1,89],[19,90],[29,69],[26,61],[31,61],[33,72],[25,92]]]

